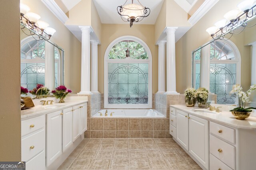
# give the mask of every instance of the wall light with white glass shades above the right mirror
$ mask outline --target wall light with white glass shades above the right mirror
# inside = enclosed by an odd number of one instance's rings
[[[212,39],[224,39],[224,36],[231,34],[228,38],[230,39],[233,34],[239,34],[244,31],[245,27],[253,27],[254,25],[248,26],[248,21],[256,17],[255,9],[256,5],[254,0],[244,0],[237,5],[239,9],[231,10],[224,15],[224,19],[216,22],[213,27],[209,27],[206,31],[210,34]],[[242,30],[236,32],[236,28],[242,27]],[[227,39],[224,39],[227,40]]]

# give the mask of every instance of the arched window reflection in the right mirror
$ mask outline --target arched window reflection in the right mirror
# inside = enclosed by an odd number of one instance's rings
[[[205,47],[204,47],[205,48]],[[194,53],[194,87],[200,87],[200,54]],[[234,104],[236,96],[229,94],[234,84],[240,84],[240,53],[232,41],[217,40],[210,44],[210,92],[217,94],[218,104]]]

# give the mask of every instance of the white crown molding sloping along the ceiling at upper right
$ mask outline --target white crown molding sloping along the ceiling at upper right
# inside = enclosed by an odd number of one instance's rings
[[[195,25],[219,0],[206,0],[198,10],[188,19],[188,22]]]

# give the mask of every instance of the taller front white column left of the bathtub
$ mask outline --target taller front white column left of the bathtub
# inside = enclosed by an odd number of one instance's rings
[[[81,55],[81,91],[78,94],[91,94],[90,92],[90,27],[79,26],[82,31]]]

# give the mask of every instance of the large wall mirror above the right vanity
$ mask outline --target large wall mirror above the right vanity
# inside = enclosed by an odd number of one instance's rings
[[[255,23],[256,18],[248,26]],[[255,34],[255,27],[244,30],[239,27],[232,37],[226,35],[226,40],[211,40],[192,51],[192,87],[200,87],[201,54],[206,51],[210,58],[210,92],[217,95],[218,104],[235,104],[236,95],[229,94],[232,86],[241,84],[246,91],[251,85],[251,44],[256,42]]]

